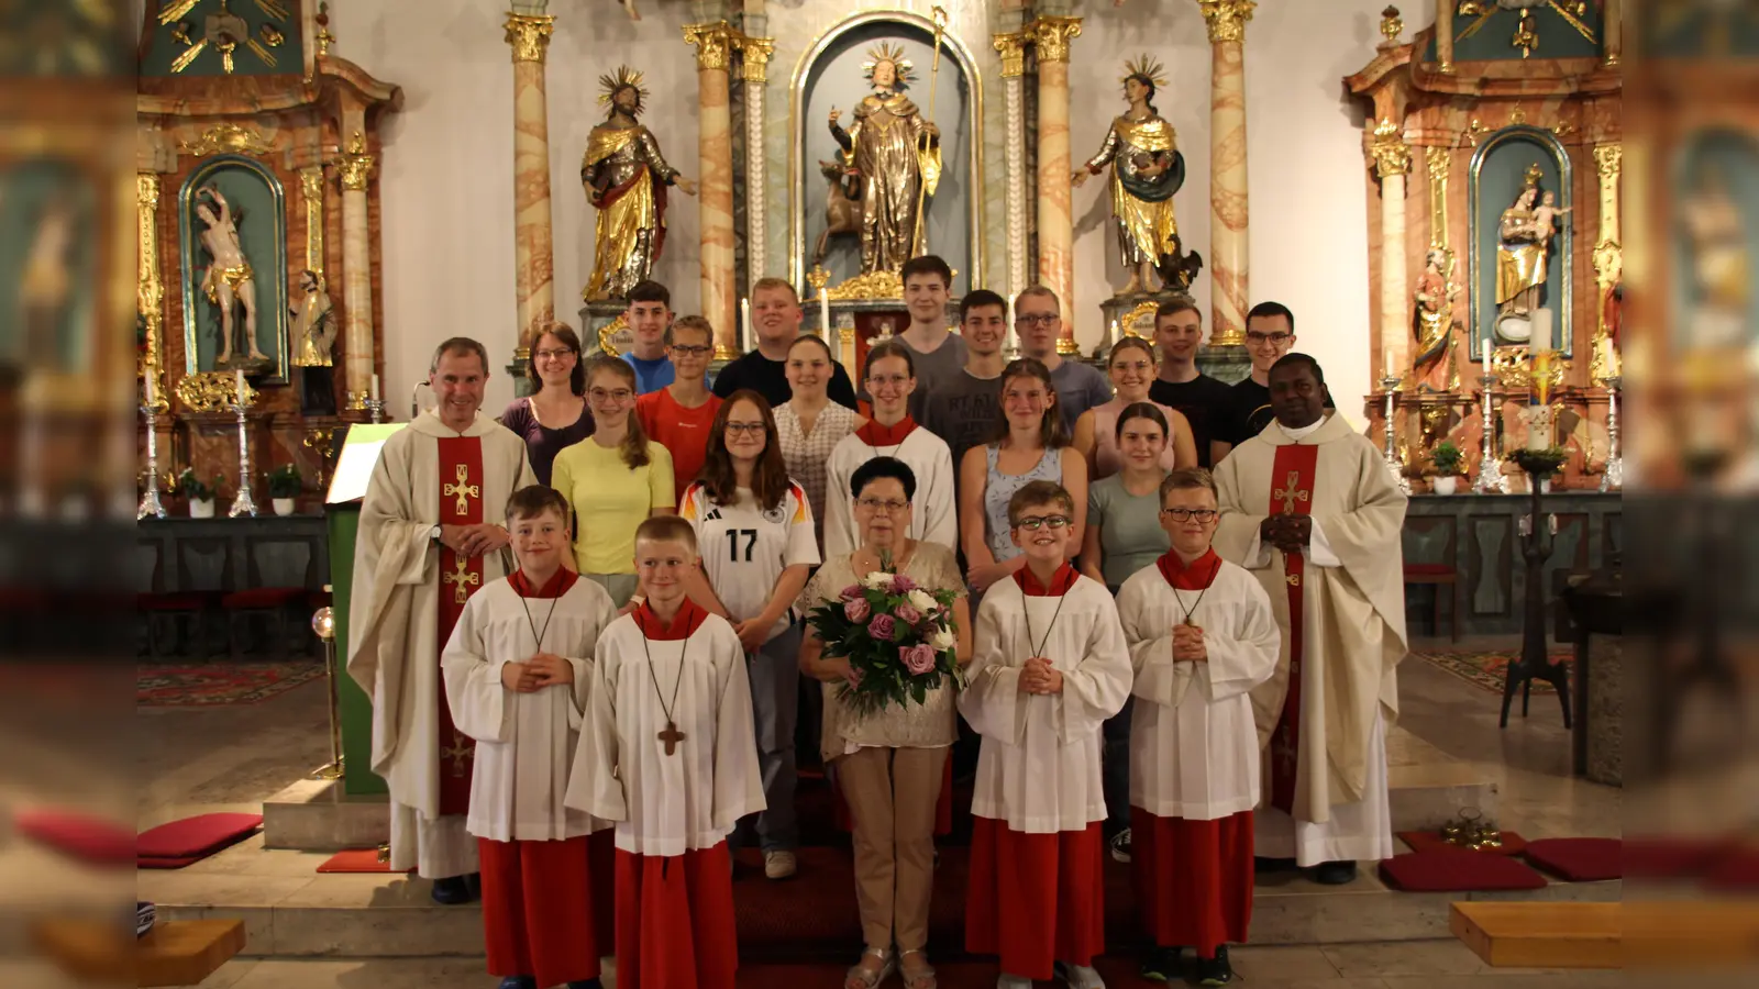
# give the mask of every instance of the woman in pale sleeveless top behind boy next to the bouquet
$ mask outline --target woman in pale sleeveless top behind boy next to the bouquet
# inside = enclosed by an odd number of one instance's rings
[[[1062,429],[1050,370],[1036,357],[1020,357],[1001,373],[994,442],[971,447],[959,465],[959,540],[973,591],[983,593],[1025,565],[1010,537],[1008,500],[1034,480],[1061,484],[1075,498],[1069,549],[1077,551],[1087,521],[1087,463]]]

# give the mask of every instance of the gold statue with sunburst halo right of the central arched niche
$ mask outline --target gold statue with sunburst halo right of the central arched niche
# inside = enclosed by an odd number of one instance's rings
[[[1154,93],[1166,84],[1159,60],[1142,55],[1124,63],[1124,99],[1129,109],[1112,120],[1105,146],[1075,169],[1077,187],[1112,165],[1112,216],[1117,222],[1119,260],[1129,269],[1122,296],[1152,292],[1149,273],[1164,289],[1189,289],[1203,260],[1186,255],[1173,218],[1173,194],[1186,181],[1173,125],[1154,109]]]

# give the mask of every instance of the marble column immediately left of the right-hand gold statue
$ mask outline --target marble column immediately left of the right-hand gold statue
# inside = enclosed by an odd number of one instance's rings
[[[1075,218],[1069,209],[1069,42],[1080,18],[1038,18],[1027,25],[1038,48],[1038,283],[1062,301],[1057,354],[1075,345]]]

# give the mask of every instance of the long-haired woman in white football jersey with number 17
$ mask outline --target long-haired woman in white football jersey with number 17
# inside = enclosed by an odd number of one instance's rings
[[[756,815],[763,875],[795,871],[793,727],[800,699],[800,628],[793,600],[818,567],[806,489],[788,480],[769,403],[735,391],[714,415],[702,475],[679,514],[697,530],[702,568],[686,577],[697,604],[734,623],[751,676],[758,766],[767,808]]]

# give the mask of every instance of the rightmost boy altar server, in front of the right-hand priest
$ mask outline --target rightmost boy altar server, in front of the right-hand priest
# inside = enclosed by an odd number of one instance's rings
[[[1161,482],[1171,551],[1117,595],[1136,713],[1129,725],[1129,831],[1136,910],[1154,945],[1142,975],[1177,982],[1189,945],[1203,985],[1233,980],[1226,941],[1252,919],[1258,729],[1251,690],[1277,670],[1270,598],[1210,549],[1215,480],[1203,468]]]

